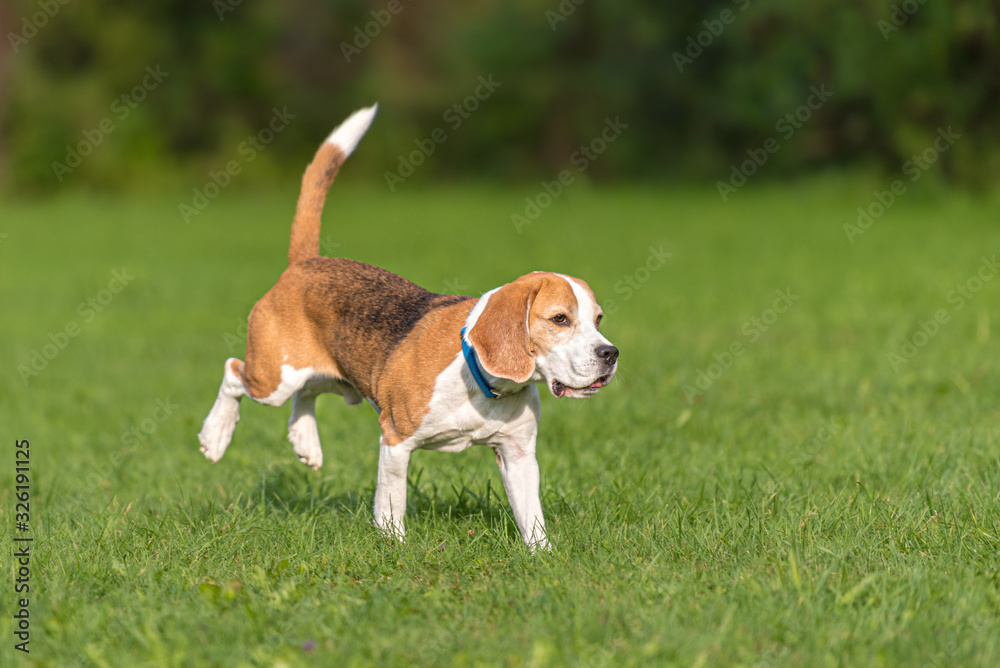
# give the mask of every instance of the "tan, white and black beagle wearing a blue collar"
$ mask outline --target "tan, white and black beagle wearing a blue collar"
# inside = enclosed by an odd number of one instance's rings
[[[618,349],[598,331],[601,307],[585,282],[534,272],[479,299],[440,295],[363,262],[319,254],[333,179],[377,105],[355,112],[319,148],[302,178],[288,268],[250,313],[246,361],[226,360],[198,440],[213,463],[226,452],[240,399],[292,400],[288,439],[323,465],[316,397],[367,400],[379,414],[375,524],[402,539],[406,472],[418,448],[496,452],[524,542],[548,547],[539,500],[536,383],[556,397],[590,397],[615,374]]]

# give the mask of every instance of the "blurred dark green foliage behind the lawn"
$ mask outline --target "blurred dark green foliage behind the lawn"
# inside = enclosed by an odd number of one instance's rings
[[[361,159],[380,172],[445,131],[415,179],[552,178],[620,117],[593,178],[726,179],[771,138],[769,176],[898,174],[951,126],[935,178],[983,187],[1000,176],[998,17],[988,0],[14,0],[0,166],[18,191],[204,180],[287,109],[253,170],[287,179],[377,100]],[[123,117],[157,65],[169,74]],[[446,120],[490,75],[496,91]],[[814,86],[832,95],[803,111]]]

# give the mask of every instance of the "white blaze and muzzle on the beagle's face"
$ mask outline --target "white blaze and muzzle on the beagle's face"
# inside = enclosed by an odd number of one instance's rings
[[[553,346],[544,356],[537,357],[535,362],[553,394],[556,394],[553,382],[558,381],[565,386],[566,396],[589,396],[598,389],[591,387],[592,385],[607,376],[601,383],[603,385],[614,375],[615,368],[609,371],[596,352],[598,347],[609,346],[611,342],[597,330],[596,320],[600,311],[587,290],[567,276],[556,275],[569,283],[576,297],[575,313],[567,313],[575,316],[571,323],[573,335],[569,340]]]

